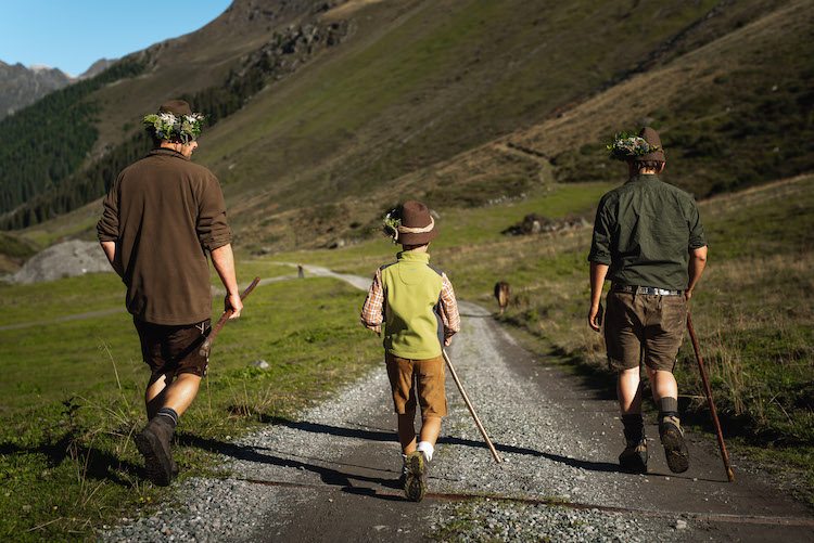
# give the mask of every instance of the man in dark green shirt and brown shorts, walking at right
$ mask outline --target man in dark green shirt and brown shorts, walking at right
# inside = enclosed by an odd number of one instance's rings
[[[659,180],[664,151],[658,133],[616,138],[613,158],[625,160],[628,181],[602,196],[590,245],[589,326],[599,332],[600,297],[611,281],[605,339],[618,372],[625,450],[620,465],[647,471],[641,418],[640,363],[645,363],[659,408],[659,434],[670,469],[686,471],[689,453],[678,418],[673,376],[687,318],[687,300],[707,263],[707,240],[695,199]]]

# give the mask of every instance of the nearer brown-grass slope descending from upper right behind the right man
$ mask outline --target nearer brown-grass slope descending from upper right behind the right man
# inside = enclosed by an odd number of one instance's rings
[[[243,243],[257,248],[308,242],[341,244],[364,237],[387,205],[408,197],[442,207],[468,207],[523,197],[545,190],[542,185],[551,181],[619,181],[623,168],[607,158],[605,144],[615,131],[646,124],[662,132],[667,147],[670,166],[663,178],[698,197],[810,171],[814,165],[814,70],[805,59],[814,53],[806,38],[814,31],[814,10],[805,2],[761,5],[765,11],[748,2],[718,5],[615,77],[616,82],[607,89],[599,86],[594,92],[586,91],[585,98],[554,108],[542,122],[517,119],[513,133],[414,173],[393,179],[385,172],[369,178],[365,194],[347,190],[348,179],[330,177],[344,164],[311,168],[322,176],[316,181],[326,189],[322,194],[353,195],[338,198],[336,205],[278,212],[287,206],[277,204],[291,197],[276,192],[279,184],[269,183],[266,194],[233,206],[245,229]],[[554,68],[545,74],[549,80],[561,80],[556,79]],[[543,85],[540,93],[545,89]],[[417,105],[415,115],[425,107],[424,103]],[[436,113],[443,117],[446,112]],[[407,115],[403,118],[412,122]],[[298,120],[304,124],[302,116]],[[433,130],[433,121],[427,121],[422,137]],[[481,126],[473,124],[470,134]],[[386,129],[380,132],[386,133]],[[364,146],[358,133],[343,159]],[[466,135],[461,127],[460,139]],[[428,145],[434,140],[421,141]],[[383,168],[381,154],[392,155],[406,145],[409,142],[372,150],[369,164],[351,170],[349,180],[360,171]],[[268,151],[269,155],[282,153]],[[284,156],[296,159],[290,152]],[[232,164],[239,167],[237,160]],[[271,158],[264,157],[264,164],[266,171],[274,171]],[[307,165],[303,168],[306,171],[292,176],[298,188],[311,185],[317,176],[308,174]],[[301,191],[301,199],[319,198],[314,192]]]

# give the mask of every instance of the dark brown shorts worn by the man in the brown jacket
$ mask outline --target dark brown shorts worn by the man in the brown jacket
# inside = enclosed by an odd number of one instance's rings
[[[182,373],[203,377],[209,363],[199,350],[209,329],[209,319],[198,324],[167,326],[132,320],[141,340],[141,355],[153,375],[173,378]]]

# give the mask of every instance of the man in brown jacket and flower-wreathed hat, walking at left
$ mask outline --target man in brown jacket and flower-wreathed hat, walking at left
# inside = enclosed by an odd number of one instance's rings
[[[127,286],[127,310],[151,370],[149,423],[136,444],[148,476],[161,486],[178,473],[170,441],[208,364],[199,354],[212,312],[206,251],[226,287],[231,319],[243,308],[220,185],[208,169],[189,161],[202,119],[181,100],[144,117],[155,148],[118,174],[97,224],[102,248]]]

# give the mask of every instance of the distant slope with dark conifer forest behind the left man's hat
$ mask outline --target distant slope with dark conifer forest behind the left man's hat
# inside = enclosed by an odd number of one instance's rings
[[[41,222],[104,193],[116,171],[149,148],[141,117],[168,98],[200,102],[208,113],[218,109],[212,124],[233,113],[264,82],[247,65],[256,53],[330,7],[313,0],[266,3],[274,9],[237,0],[201,30],[128,55],[0,122],[3,227]]]

